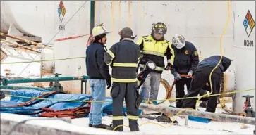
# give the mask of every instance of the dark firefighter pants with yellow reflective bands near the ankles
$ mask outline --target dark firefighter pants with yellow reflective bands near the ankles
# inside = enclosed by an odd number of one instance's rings
[[[113,82],[111,97],[113,98],[113,127],[123,125],[123,100],[126,99],[126,110],[129,119],[130,131],[139,131],[138,109],[135,108],[135,101],[138,98],[137,82],[119,83]],[[123,127],[116,128],[116,131],[123,131]]]

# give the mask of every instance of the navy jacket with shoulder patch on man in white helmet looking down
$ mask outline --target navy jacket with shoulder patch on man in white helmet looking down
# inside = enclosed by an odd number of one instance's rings
[[[178,72],[178,74],[188,74],[190,70],[195,72],[195,68],[199,63],[195,46],[189,41],[185,41],[185,46],[181,49],[177,49],[173,44],[171,44],[171,47],[175,55],[171,73]]]

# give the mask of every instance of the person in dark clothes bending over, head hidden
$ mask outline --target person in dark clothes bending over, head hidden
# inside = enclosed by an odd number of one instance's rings
[[[195,68],[195,75],[190,84],[190,89],[188,89],[188,94],[185,97],[197,96],[200,93],[200,89],[209,83],[209,75],[214,69],[214,67],[219,63],[221,56],[211,56],[202,60]],[[222,57],[219,66],[212,72],[212,94],[219,94],[221,75],[229,68],[231,65],[231,60],[226,57]],[[214,113],[218,104],[217,96],[210,96],[207,103],[207,112]],[[197,98],[187,98],[183,100],[182,108],[193,108],[195,109]]]

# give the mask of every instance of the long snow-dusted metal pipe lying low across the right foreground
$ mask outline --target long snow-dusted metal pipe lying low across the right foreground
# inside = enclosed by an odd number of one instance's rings
[[[162,107],[158,105],[147,105],[145,103],[140,104],[140,109],[142,110],[154,110],[161,113],[172,113],[177,114],[183,110],[180,115],[189,115],[195,117],[203,117],[207,119],[217,120],[219,122],[239,122],[244,124],[255,125],[255,117],[242,117],[236,115],[225,115],[221,113],[209,113],[209,112],[200,112],[196,110],[185,110],[184,108],[171,108],[171,107]]]

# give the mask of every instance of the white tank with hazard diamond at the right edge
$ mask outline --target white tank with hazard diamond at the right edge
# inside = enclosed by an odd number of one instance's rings
[[[233,2],[233,1],[232,1]],[[236,94],[235,112],[243,111],[245,98],[251,95],[252,108],[255,106],[255,1],[234,1],[234,44],[233,53],[236,66],[236,89],[245,91]]]

